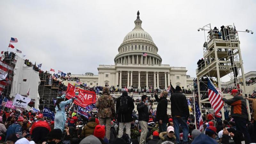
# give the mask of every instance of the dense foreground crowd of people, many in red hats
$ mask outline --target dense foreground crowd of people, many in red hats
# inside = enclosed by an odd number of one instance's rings
[[[225,120],[212,113],[203,115],[202,130],[196,129],[195,117],[189,114],[188,101],[177,86],[170,99],[167,91],[154,93],[151,99],[142,95],[137,108],[132,97],[123,91],[115,99],[110,88],[102,87],[102,95],[96,101],[96,110],[86,111],[88,117],[74,111],[70,105],[75,97],[64,101],[59,95],[55,105],[55,120],[41,112],[1,110],[1,141],[11,144],[249,144],[256,142],[254,118],[248,121],[246,104],[239,91],[233,90],[233,99],[224,102],[231,106]],[[255,98],[252,101],[256,111]],[[158,102],[151,111],[151,102]],[[167,103],[171,102],[171,113],[167,114]],[[236,105],[234,105],[236,103]],[[5,108],[6,109],[6,108]],[[237,113],[237,111],[241,113]],[[227,116],[226,116],[227,115]]]

